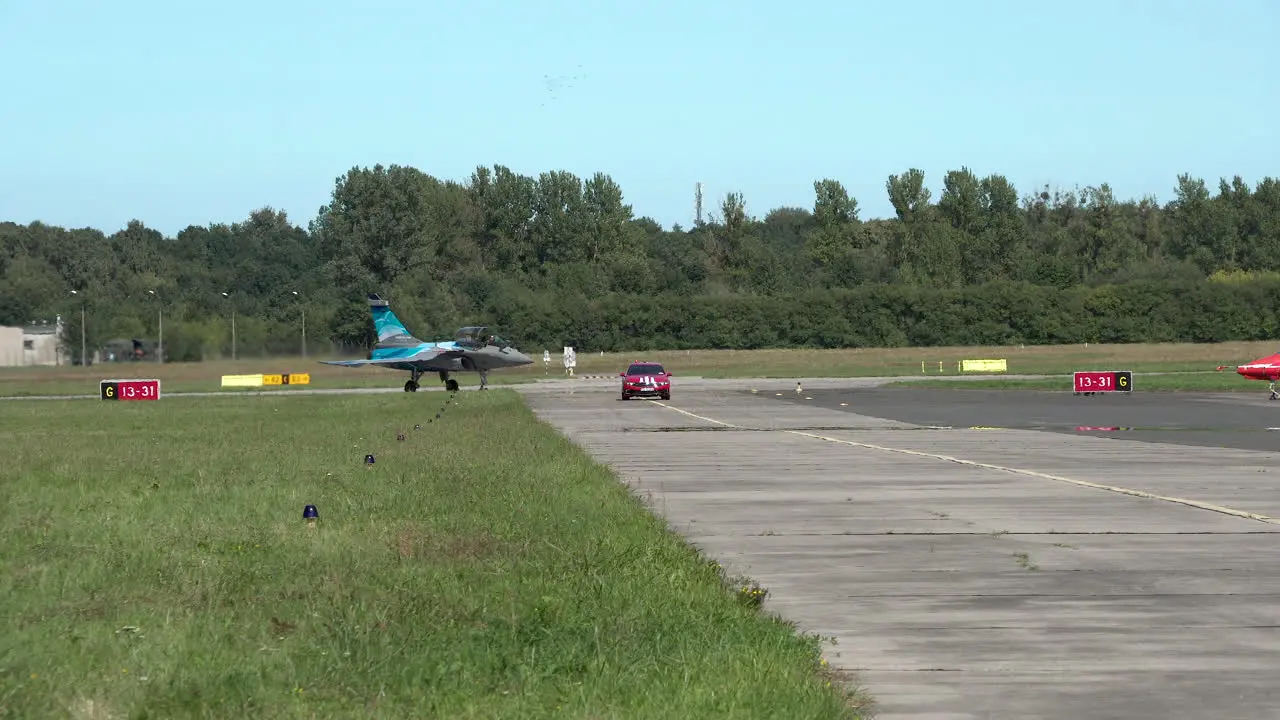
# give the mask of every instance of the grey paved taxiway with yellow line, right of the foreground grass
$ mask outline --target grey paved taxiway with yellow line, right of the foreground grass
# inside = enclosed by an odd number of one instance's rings
[[[879,717],[1280,716],[1280,404],[874,384],[517,389]]]

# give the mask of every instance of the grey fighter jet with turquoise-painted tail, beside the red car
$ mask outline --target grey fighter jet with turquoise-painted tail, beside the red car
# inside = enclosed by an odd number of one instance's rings
[[[401,323],[390,306],[378,295],[369,296],[369,309],[374,314],[374,329],[378,331],[378,343],[374,345],[369,359],[321,360],[321,363],[346,368],[378,365],[408,370],[410,379],[404,383],[404,392],[417,392],[419,378],[430,372],[439,373],[444,387],[457,392],[458,380],[451,378],[449,373],[462,370],[480,373],[480,389],[488,389],[489,370],[532,364],[532,360],[509,342],[489,334],[489,328],[484,325],[460,328],[452,341],[424,342],[408,333],[404,323]]]

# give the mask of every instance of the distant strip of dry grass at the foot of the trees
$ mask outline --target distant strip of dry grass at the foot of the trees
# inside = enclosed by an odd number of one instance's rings
[[[561,352],[552,352],[550,366],[541,363],[540,348],[525,348],[536,361],[527,368],[497,370],[492,384],[562,378]],[[965,359],[1005,359],[1009,373],[1064,375],[1075,370],[1196,372],[1219,365],[1238,365],[1270,355],[1270,342],[1224,342],[1204,345],[1062,345],[1030,347],[899,347],[851,350],[689,350],[662,352],[604,354],[580,350],[576,375],[617,374],[631,360],[657,360],[681,375],[707,378],[800,378],[800,377],[901,377],[956,375]],[[923,369],[922,369],[923,363]],[[940,368],[941,364],[941,368]],[[93,395],[108,377],[160,378],[166,392],[218,391],[221,375],[243,373],[310,373],[311,387],[401,387],[407,373],[378,368],[338,368],[314,357],[268,360],[174,363],[120,363],[90,368],[0,369],[0,396]],[[479,384],[475,373],[456,375],[463,386]],[[425,377],[424,387],[438,387],[438,378]],[[244,392],[228,391],[228,392]]]

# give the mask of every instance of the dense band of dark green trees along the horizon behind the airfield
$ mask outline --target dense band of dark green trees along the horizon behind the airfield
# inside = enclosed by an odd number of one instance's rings
[[[79,355],[155,340],[169,360],[362,352],[378,292],[424,340],[490,324],[536,351],[1228,341],[1276,337],[1280,181],[1180,176],[1019,195],[966,168],[890,176],[863,219],[836,179],[810,208],[739,192],[690,227],[635,215],[604,173],[479,167],[467,182],[352,168],[302,228],[264,208],[165,237],[0,223],[0,324],[63,315]],[[73,292],[74,291],[74,292]]]

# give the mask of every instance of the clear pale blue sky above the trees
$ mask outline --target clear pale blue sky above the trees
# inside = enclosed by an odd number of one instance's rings
[[[1276,37],[1276,0],[4,0],[0,219],[306,227],[378,163],[600,170],[667,227],[698,181],[886,217],[910,167],[1167,201],[1280,174]]]

